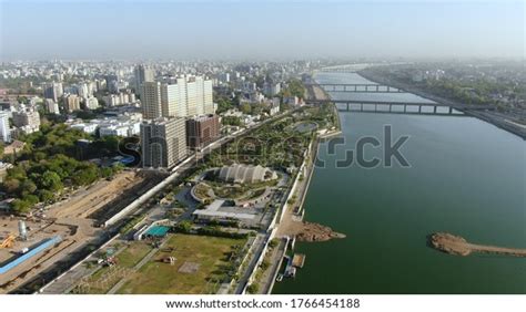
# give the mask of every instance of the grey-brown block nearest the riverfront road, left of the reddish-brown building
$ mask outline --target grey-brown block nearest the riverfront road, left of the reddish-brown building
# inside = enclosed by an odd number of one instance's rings
[[[171,168],[188,155],[184,118],[158,118],[141,124],[142,166]]]

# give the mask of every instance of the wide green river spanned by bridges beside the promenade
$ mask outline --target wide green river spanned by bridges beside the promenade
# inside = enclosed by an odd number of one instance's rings
[[[320,73],[320,83],[371,83],[352,73]],[[333,98],[423,98],[412,94],[330,93]],[[345,144],[320,146],[305,220],[347,237],[297,243],[306,254],[295,279],[273,293],[526,293],[526,259],[442,253],[427,235],[446,231],[474,243],[526,248],[526,143],[473,117],[341,112]],[[391,125],[411,167],[336,168],[356,141]],[[365,157],[382,157],[371,145]]]

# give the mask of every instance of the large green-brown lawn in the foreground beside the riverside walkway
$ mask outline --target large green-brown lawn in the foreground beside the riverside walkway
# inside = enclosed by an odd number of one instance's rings
[[[128,278],[119,293],[212,293],[225,277],[231,251],[245,243],[246,239],[172,235],[144,267]],[[166,257],[175,257],[175,263],[162,262]],[[186,261],[199,264],[198,271],[179,272]]]

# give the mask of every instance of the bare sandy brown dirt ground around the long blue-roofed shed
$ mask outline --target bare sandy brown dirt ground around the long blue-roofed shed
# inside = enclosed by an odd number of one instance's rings
[[[17,239],[9,249],[0,249],[0,263],[14,257],[23,248],[36,246],[44,239],[61,236],[62,241],[14,269],[0,275],[0,293],[6,293],[42,272],[54,262],[68,257],[79,247],[103,232],[94,227],[94,220],[88,217],[111,202],[125,191],[142,183],[144,178],[135,171],[122,171],[112,180],[100,180],[87,188],[80,188],[68,199],[47,208],[45,218],[26,220],[29,227],[28,240]],[[18,218],[0,219],[0,242],[9,235],[18,235]]]

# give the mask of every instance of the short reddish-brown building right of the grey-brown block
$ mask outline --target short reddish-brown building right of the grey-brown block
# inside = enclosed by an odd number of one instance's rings
[[[186,121],[186,144],[190,148],[200,148],[220,136],[218,115],[203,115]]]

